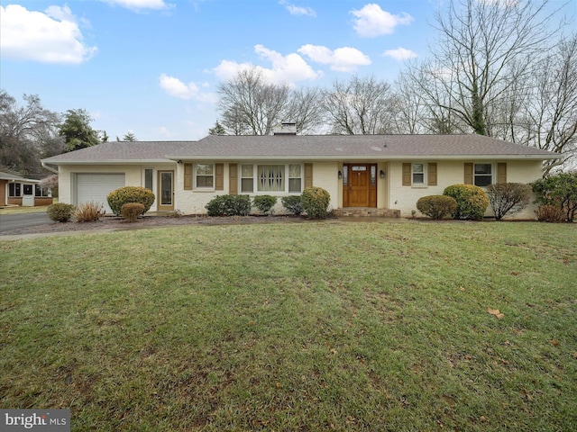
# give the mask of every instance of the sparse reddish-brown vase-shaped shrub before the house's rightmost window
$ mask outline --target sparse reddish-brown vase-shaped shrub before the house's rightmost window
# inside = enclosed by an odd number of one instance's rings
[[[531,186],[523,183],[499,183],[487,186],[487,196],[495,219],[522,211],[531,201]]]

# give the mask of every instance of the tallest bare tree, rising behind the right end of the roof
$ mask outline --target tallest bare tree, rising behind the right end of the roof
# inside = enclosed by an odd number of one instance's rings
[[[503,101],[531,73],[538,53],[551,46],[553,14],[549,0],[450,0],[436,15],[440,40],[432,49],[435,62],[424,63],[446,101],[435,100],[430,83],[419,88],[445,111],[458,116],[472,131],[490,135],[488,110]],[[435,68],[431,68],[435,67]]]

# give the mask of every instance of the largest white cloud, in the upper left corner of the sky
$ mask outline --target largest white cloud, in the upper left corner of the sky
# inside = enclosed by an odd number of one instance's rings
[[[44,13],[18,4],[0,6],[0,49],[3,57],[42,63],[78,64],[96,54],[84,43],[68,6],[50,6]]]

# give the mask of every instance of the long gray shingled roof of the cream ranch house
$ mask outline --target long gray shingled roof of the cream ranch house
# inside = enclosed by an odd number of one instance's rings
[[[217,136],[199,141],[111,142],[49,157],[49,164],[161,159],[533,158],[557,154],[481,135]]]

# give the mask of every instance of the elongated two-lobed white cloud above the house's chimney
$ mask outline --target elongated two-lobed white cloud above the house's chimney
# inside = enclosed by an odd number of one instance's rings
[[[274,84],[294,85],[298,81],[316,79],[321,76],[298,54],[291,53],[283,56],[277,51],[267,49],[262,45],[255,45],[254,51],[270,61],[272,67],[256,66],[262,75]],[[254,67],[251,63],[236,63],[231,60],[222,60],[213,70],[215,75],[223,81],[230,81],[238,75],[239,72]]]

